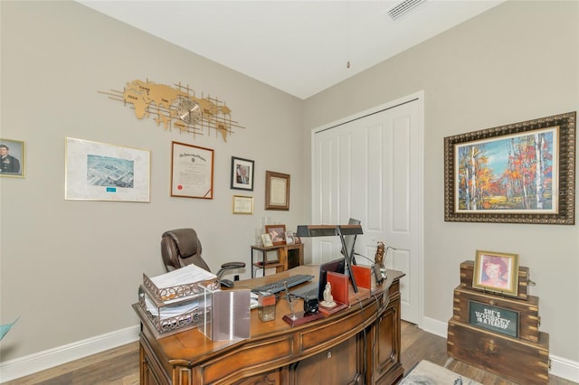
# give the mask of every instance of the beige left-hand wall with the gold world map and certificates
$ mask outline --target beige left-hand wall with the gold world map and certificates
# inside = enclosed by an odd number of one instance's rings
[[[164,230],[194,227],[216,271],[249,263],[262,217],[288,229],[307,218],[302,100],[74,2],[1,6],[1,137],[27,153],[24,179],[0,179],[1,322],[21,316],[3,362],[137,325],[130,305],[143,273],[164,272]],[[136,79],[188,84],[225,101],[245,128],[227,143],[168,132],[98,92]],[[67,136],[149,149],[151,202],[65,201]],[[214,149],[214,200],[169,196],[171,141]],[[232,156],[255,161],[253,192],[230,189]],[[291,175],[289,212],[264,211],[266,170]],[[252,195],[254,215],[232,215],[233,194]]]

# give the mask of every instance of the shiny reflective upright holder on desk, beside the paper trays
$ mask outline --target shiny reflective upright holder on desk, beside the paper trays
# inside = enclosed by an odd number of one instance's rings
[[[214,341],[249,338],[250,305],[249,289],[205,290],[201,309],[204,316],[199,331]]]

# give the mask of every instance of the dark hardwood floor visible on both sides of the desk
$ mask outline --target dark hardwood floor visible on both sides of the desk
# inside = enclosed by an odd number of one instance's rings
[[[421,360],[437,363],[484,385],[511,385],[504,380],[466,363],[449,358],[446,339],[426,333],[414,324],[402,323],[402,363],[410,371]],[[516,369],[514,369],[516,370]],[[41,371],[6,382],[7,385],[133,385],[138,384],[138,343],[129,343],[116,349]],[[549,376],[549,385],[572,385],[576,382]],[[525,384],[521,384],[525,385]]]

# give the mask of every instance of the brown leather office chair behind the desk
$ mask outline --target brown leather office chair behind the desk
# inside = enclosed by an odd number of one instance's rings
[[[161,255],[167,272],[191,264],[211,271],[201,257],[201,241],[193,229],[165,231],[161,236]],[[233,286],[231,280],[221,278],[225,271],[233,268],[245,268],[245,262],[227,262],[221,266],[216,276],[222,286]]]

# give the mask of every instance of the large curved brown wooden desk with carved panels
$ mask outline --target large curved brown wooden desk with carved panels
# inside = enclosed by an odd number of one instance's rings
[[[318,274],[318,267],[235,283],[252,288],[292,274]],[[196,329],[157,339],[141,318],[141,384],[394,384],[400,362],[400,278],[388,278],[370,298],[326,318],[290,327],[282,317],[289,304],[280,298],[276,319],[262,323],[252,310],[252,337],[211,341]],[[296,311],[303,309],[299,301]]]

